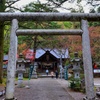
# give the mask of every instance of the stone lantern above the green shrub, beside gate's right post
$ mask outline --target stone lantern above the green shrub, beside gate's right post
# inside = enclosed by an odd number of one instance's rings
[[[73,72],[74,72],[74,78],[79,79],[80,78],[80,63],[81,63],[81,59],[78,58],[78,53],[75,52],[74,53],[74,59],[72,59],[72,63],[73,63]]]

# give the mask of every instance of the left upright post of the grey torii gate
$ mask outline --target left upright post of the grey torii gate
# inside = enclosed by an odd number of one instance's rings
[[[16,71],[16,55],[17,55],[17,37],[16,30],[18,22],[16,19],[12,20],[12,28],[10,34],[10,48],[8,54],[8,67],[7,67],[7,85],[6,85],[6,100],[14,100],[15,88],[15,71]]]

